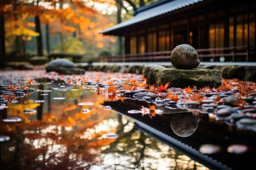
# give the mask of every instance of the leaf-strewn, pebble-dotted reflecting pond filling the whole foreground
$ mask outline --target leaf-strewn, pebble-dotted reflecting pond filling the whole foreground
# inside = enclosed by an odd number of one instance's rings
[[[180,89],[147,88],[135,74],[0,76],[2,170],[256,169],[255,83]]]

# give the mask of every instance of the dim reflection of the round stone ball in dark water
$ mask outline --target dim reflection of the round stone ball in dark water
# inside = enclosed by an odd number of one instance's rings
[[[200,117],[194,117],[191,113],[171,114],[171,128],[180,137],[189,137],[198,128]]]

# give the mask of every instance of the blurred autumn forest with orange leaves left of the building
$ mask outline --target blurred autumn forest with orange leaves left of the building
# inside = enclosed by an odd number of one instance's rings
[[[157,0],[0,0],[0,57],[27,61],[49,53],[79,53],[82,62],[124,53],[123,38],[98,32]]]

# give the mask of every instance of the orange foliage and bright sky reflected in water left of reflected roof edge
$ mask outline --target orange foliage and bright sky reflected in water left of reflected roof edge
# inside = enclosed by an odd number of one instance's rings
[[[0,110],[2,119],[22,120],[0,122],[0,135],[10,137],[0,144],[2,169],[207,169],[138,131],[130,119],[104,110],[101,104],[108,97],[90,90],[83,95],[81,86],[72,87],[77,91],[56,91],[46,84],[34,88],[52,92],[35,92]],[[53,99],[60,96],[65,99]],[[36,99],[45,102],[32,103]],[[26,114],[27,109],[36,115]]]

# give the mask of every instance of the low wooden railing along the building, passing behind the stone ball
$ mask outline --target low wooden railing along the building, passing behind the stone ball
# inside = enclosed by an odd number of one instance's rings
[[[249,46],[231,46],[222,48],[210,48],[210,49],[197,49],[198,55],[201,59],[211,58],[213,61],[216,57],[231,57],[232,61],[235,61],[236,56],[245,57],[245,60],[249,60]],[[158,51],[149,53],[135,53],[135,54],[120,54],[102,56],[101,62],[164,62],[171,60],[172,51]]]

